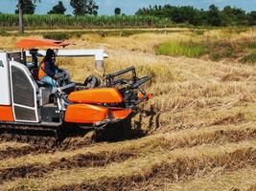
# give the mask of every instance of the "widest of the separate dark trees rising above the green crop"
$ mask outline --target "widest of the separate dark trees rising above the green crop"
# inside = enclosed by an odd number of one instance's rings
[[[97,15],[99,10],[93,0],[71,0],[70,5],[73,7],[75,15]]]

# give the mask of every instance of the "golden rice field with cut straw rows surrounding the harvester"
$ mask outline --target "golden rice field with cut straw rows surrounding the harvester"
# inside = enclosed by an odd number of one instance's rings
[[[105,48],[106,73],[134,65],[153,75],[145,87],[153,97],[89,144],[90,135],[53,150],[0,142],[0,190],[255,190],[256,66],[240,61],[250,48],[218,62],[156,53],[166,42],[250,46],[255,37],[252,29],[71,37],[70,48]],[[14,50],[20,38],[1,36],[1,49]],[[102,75],[92,59],[58,58],[58,65],[74,81]]]

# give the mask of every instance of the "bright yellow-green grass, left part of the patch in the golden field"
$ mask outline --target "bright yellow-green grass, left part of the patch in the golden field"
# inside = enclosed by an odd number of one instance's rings
[[[165,42],[157,47],[156,53],[171,56],[200,57],[205,53],[205,47],[193,42]]]

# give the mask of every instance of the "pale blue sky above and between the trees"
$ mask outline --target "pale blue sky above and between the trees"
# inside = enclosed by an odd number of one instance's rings
[[[149,7],[150,5],[165,5],[171,4],[175,6],[190,5],[198,9],[207,10],[209,5],[215,4],[219,8],[226,5],[243,8],[245,11],[256,11],[256,0],[95,0],[99,5],[99,14],[113,14],[116,7],[122,9],[126,14],[133,14],[139,8]],[[0,0],[0,11],[12,13],[15,9],[16,0]],[[72,8],[69,5],[69,0],[62,0],[67,8],[66,13],[72,13]],[[51,10],[58,0],[41,0],[37,3],[35,12],[44,14]]]

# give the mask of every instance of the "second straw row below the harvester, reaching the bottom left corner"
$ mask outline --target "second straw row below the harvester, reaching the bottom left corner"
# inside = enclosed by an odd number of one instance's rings
[[[228,143],[220,147],[200,145],[191,149],[161,153],[161,155],[156,152],[141,158],[128,159],[122,163],[112,163],[105,167],[56,170],[43,179],[21,179],[5,183],[3,189],[29,189],[33,186],[36,190],[54,188],[60,190],[63,186],[79,186],[83,182],[90,182],[87,183],[88,185],[93,183],[97,185],[97,181],[107,182],[107,180],[120,178],[128,181],[139,179],[138,182],[140,182],[140,178],[142,181],[150,179],[152,173],[157,174],[159,178],[170,176],[171,181],[202,177],[209,173],[221,174],[225,170],[236,170],[244,165],[253,165],[253,160],[256,158],[255,145],[254,141],[245,141]],[[123,183],[126,185],[128,182]]]

